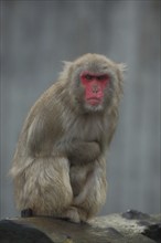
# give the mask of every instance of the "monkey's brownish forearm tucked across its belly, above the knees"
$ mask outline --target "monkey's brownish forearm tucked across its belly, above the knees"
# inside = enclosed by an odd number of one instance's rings
[[[100,155],[100,146],[97,141],[74,140],[68,147],[71,165],[85,165],[93,162]]]

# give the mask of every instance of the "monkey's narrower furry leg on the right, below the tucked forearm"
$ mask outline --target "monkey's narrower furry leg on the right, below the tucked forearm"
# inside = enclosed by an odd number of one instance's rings
[[[94,162],[83,191],[74,199],[80,221],[87,221],[99,212],[106,201],[106,160],[100,158]]]

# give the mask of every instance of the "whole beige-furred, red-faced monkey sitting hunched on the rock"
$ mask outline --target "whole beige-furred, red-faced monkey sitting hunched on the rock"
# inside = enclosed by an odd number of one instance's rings
[[[11,168],[22,215],[86,222],[100,210],[124,68],[98,54],[65,62],[31,108]]]

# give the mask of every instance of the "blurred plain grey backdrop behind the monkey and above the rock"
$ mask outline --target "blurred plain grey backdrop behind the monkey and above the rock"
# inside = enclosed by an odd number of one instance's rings
[[[8,171],[26,114],[84,53],[127,63],[100,214],[160,212],[160,1],[1,1],[0,216],[19,215]]]

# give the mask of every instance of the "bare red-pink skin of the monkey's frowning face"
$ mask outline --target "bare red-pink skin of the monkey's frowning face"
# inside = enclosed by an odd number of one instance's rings
[[[103,103],[104,92],[109,83],[107,74],[96,74],[85,71],[80,74],[80,82],[85,87],[85,101],[92,106]]]

